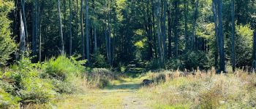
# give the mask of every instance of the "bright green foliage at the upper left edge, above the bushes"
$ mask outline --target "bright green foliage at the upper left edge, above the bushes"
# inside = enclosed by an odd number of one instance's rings
[[[13,9],[12,1],[0,0],[0,65],[5,65],[15,51],[15,41],[10,37],[10,23],[7,15]]]

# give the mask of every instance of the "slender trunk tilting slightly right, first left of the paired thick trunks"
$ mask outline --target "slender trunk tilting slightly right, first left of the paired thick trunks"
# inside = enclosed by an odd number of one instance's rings
[[[195,15],[194,15],[194,22],[193,22],[193,30],[192,30],[192,37],[191,37],[191,47],[192,49],[195,51],[196,50],[196,46],[195,46],[195,25],[197,22],[197,14],[198,14],[198,4],[199,4],[199,0],[196,1],[195,3]]]

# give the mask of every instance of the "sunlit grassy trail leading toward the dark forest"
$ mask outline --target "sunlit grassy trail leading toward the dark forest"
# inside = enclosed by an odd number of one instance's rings
[[[65,109],[150,109],[142,92],[140,78],[129,78],[105,89],[97,89],[86,94],[75,94],[57,104]]]

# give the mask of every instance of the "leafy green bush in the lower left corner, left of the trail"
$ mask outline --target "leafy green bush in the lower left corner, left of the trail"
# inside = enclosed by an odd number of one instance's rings
[[[20,106],[50,102],[56,92],[49,80],[40,78],[39,68],[41,65],[38,63],[31,63],[29,58],[22,57],[1,75],[3,82],[0,89],[13,97],[19,97]]]

